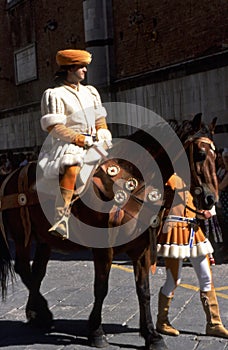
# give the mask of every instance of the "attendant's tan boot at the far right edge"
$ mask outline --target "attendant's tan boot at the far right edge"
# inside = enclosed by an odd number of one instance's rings
[[[200,291],[200,299],[206,314],[206,334],[215,337],[228,338],[228,330],[223,326],[218,301],[214,287],[209,292]]]

